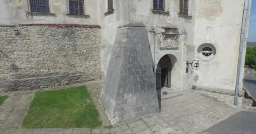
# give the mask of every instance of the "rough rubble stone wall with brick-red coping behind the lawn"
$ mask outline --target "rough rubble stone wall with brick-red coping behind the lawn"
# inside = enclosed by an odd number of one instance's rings
[[[100,80],[100,52],[99,26],[0,27],[0,91]]]

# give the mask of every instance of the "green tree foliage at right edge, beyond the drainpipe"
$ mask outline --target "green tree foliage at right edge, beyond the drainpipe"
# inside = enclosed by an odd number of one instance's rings
[[[256,47],[246,49],[245,64],[256,70]]]

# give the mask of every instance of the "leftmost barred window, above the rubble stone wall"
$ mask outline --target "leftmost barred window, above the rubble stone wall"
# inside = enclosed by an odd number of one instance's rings
[[[36,13],[50,13],[48,0],[29,0],[30,11]]]

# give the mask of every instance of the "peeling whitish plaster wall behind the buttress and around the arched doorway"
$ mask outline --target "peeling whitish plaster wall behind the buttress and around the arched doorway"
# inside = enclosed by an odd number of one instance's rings
[[[187,90],[192,88],[192,78],[190,73],[185,73],[186,70],[186,60],[191,60],[194,57],[195,49],[192,51],[190,48],[194,48],[194,15],[195,15],[195,0],[189,0],[189,15],[192,16],[192,19],[179,17],[179,0],[166,0],[165,1],[165,11],[168,11],[168,15],[152,13],[153,9],[153,0],[150,2],[148,0],[125,0],[128,3],[120,3],[114,1],[115,13],[104,17],[104,26],[102,26],[102,53],[101,53],[101,66],[102,71],[106,73],[106,67],[109,62],[109,56],[112,48],[112,44],[115,40],[115,33],[117,26],[120,26],[124,23],[143,23],[146,25],[148,31],[150,49],[152,51],[152,57],[157,64],[161,57],[165,54],[171,58],[173,63],[173,72],[172,72],[172,82],[173,88],[179,90]],[[127,9],[128,7],[128,9]],[[129,16],[120,19],[119,15],[122,15],[122,10],[128,10]],[[120,13],[121,12],[121,13]],[[125,12],[125,11],[123,11]],[[125,12],[126,13],[126,12]],[[128,21],[127,21],[128,19]],[[112,22],[112,23],[111,23]],[[179,28],[180,32],[180,44],[179,49],[166,49],[160,50],[158,48],[158,37],[162,32],[162,27],[174,26]],[[153,28],[153,33],[149,32]],[[104,40],[106,39],[106,40]],[[105,43],[107,42],[107,43]],[[187,51],[189,48],[190,51]],[[192,55],[193,57],[187,57]],[[182,84],[186,83],[186,84]]]

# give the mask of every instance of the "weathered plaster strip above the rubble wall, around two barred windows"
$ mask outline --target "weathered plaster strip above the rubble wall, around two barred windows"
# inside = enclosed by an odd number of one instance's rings
[[[3,0],[0,3],[0,24],[23,23],[72,23],[98,24],[98,0],[85,0],[85,17],[83,15],[66,15],[69,13],[68,0],[49,0],[50,13],[36,14],[29,12],[29,0]]]

